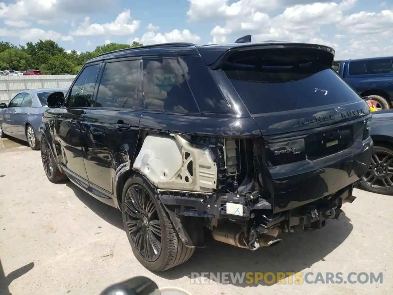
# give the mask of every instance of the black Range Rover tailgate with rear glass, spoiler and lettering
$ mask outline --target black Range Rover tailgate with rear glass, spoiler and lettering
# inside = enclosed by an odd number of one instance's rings
[[[333,58],[292,46],[235,52],[220,66],[264,136],[275,212],[337,192],[367,169],[370,109],[331,69]]]

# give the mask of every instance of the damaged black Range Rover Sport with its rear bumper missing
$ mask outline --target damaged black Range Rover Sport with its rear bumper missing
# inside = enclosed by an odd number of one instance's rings
[[[152,271],[187,261],[206,229],[255,250],[324,227],[355,199],[373,147],[369,107],[334,54],[243,40],[99,55],[48,97],[45,173],[119,208]]]

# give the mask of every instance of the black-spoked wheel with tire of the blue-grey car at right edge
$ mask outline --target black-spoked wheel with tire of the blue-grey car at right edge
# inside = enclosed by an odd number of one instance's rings
[[[374,146],[369,170],[362,177],[360,187],[377,194],[393,193],[393,151]]]

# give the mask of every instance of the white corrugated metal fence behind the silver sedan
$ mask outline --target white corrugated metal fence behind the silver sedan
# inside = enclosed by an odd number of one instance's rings
[[[26,89],[70,87],[76,75],[0,76],[0,103]]]

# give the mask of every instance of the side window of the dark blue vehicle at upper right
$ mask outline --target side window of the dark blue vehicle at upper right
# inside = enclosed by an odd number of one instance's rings
[[[387,74],[393,72],[391,59],[370,59],[349,62],[348,75]]]

